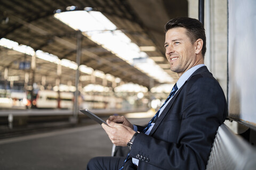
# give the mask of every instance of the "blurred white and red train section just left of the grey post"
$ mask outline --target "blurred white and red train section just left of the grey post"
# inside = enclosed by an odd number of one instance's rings
[[[33,95],[33,97],[31,97]],[[61,108],[72,109],[74,105],[73,92],[57,92],[52,90],[39,90],[28,95],[31,108]]]

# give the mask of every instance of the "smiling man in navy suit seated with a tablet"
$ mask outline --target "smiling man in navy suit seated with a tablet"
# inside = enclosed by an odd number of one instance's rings
[[[100,157],[88,169],[205,169],[218,127],[227,116],[225,95],[204,63],[205,30],[191,18],[165,25],[166,58],[179,75],[173,94],[146,127],[110,116],[102,128],[129,158]],[[177,89],[178,88],[178,89]],[[138,132],[137,132],[138,131]],[[92,168],[94,167],[94,168]]]

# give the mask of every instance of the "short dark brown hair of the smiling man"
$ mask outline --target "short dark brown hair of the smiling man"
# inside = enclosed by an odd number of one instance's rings
[[[195,43],[199,38],[203,40],[202,54],[204,56],[206,52],[204,25],[199,20],[193,18],[174,18],[165,24],[164,31],[166,33],[168,30],[177,27],[186,28],[187,36],[190,38],[191,43]]]

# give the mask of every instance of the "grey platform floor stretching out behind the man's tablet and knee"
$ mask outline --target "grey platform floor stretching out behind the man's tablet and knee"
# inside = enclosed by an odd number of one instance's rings
[[[150,118],[131,118],[147,124]],[[85,169],[95,156],[111,156],[112,143],[99,124],[0,140],[0,169]]]

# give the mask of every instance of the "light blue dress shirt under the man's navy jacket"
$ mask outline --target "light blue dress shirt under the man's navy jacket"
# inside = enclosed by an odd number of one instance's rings
[[[196,65],[194,67],[192,67],[191,69],[189,69],[188,71],[186,71],[185,73],[183,73],[181,75],[181,77],[179,78],[179,80],[177,81],[177,87],[178,87],[178,90],[183,86],[183,84],[188,80],[188,78],[197,70],[199,69],[200,67],[202,66],[205,66],[204,64],[199,64],[199,65]],[[176,92],[177,92],[176,91]],[[168,105],[168,103],[170,102],[170,100],[172,99],[172,97],[166,102],[166,104],[161,108],[161,111],[159,112],[159,115],[158,117],[161,115],[161,113],[164,111],[164,108]],[[149,129],[145,132],[145,134],[149,134],[150,131],[152,130],[153,126],[154,126],[155,123],[151,123],[151,126],[149,127]],[[133,125],[133,130],[134,131],[138,131],[138,128],[136,125]],[[135,165],[139,165],[139,159],[135,159],[135,158],[132,158],[132,162],[133,164]]]

